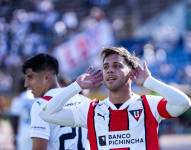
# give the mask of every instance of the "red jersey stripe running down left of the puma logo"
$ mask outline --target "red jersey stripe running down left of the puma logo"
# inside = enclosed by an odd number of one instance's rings
[[[96,140],[96,132],[95,132],[95,123],[94,123],[94,109],[96,107],[96,104],[98,101],[92,101],[90,103],[89,111],[88,111],[88,120],[87,120],[87,125],[88,125],[88,138],[89,138],[89,143],[90,143],[90,149],[91,150],[98,150],[97,147],[97,140]]]

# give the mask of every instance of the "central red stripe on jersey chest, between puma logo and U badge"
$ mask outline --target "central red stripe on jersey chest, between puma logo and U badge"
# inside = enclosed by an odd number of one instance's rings
[[[129,130],[129,117],[127,109],[112,110],[109,108],[109,131]],[[129,148],[113,148],[111,150],[129,150]]]

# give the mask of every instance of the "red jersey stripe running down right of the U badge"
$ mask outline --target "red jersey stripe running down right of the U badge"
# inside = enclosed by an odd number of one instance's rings
[[[158,122],[153,116],[145,95],[142,96],[145,116],[146,150],[159,150],[157,127]]]

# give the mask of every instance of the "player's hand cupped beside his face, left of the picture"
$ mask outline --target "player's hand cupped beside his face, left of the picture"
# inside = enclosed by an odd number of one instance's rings
[[[93,67],[89,67],[86,73],[80,75],[76,80],[82,89],[98,87],[102,84],[102,81],[102,70]]]

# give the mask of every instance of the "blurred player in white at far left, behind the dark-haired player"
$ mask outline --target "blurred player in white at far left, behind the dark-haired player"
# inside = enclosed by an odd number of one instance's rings
[[[25,90],[23,82],[20,84],[19,94],[12,100],[10,111],[19,117],[19,127],[17,134],[18,150],[32,149],[30,138],[30,110],[34,97],[30,90]],[[22,111],[21,111],[22,110]]]

